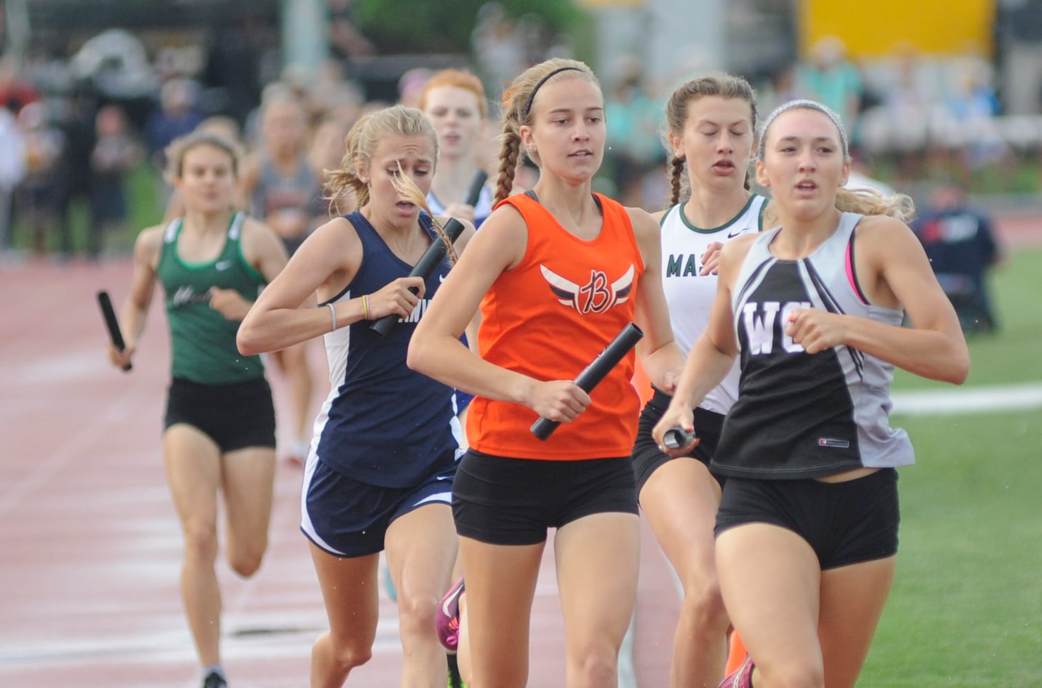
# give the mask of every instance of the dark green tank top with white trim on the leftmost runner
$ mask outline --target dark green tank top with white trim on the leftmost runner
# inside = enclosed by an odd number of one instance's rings
[[[224,249],[215,260],[189,263],[177,255],[182,221],[174,220],[163,234],[155,274],[166,292],[170,324],[171,375],[202,384],[247,382],[264,377],[259,356],[243,356],[235,347],[238,321],[209,307],[213,287],[235,289],[255,301],[264,277],[243,257],[240,236],[245,215],[232,215]]]

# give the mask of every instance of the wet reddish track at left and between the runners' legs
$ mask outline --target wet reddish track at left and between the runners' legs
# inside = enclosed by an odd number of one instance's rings
[[[129,278],[127,260],[0,265],[2,686],[198,686],[159,447],[169,357],[162,302],[128,374],[105,359],[95,302],[98,289],[109,289],[118,310]],[[272,383],[280,399],[277,375]],[[300,476],[279,466],[260,571],[242,581],[219,566],[224,662],[234,688],[306,686],[312,641],[326,628],[297,529]],[[650,532],[642,563],[636,664],[642,685],[663,686],[677,597]],[[349,686],[398,685],[396,611],[384,598],[373,659]],[[532,686],[564,685],[550,555],[532,615],[531,667]]]

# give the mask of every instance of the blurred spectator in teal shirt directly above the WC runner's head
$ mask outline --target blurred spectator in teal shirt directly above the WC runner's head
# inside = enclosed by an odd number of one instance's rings
[[[861,70],[847,58],[846,44],[835,35],[819,39],[798,70],[799,88],[833,108],[855,136],[865,86]]]

